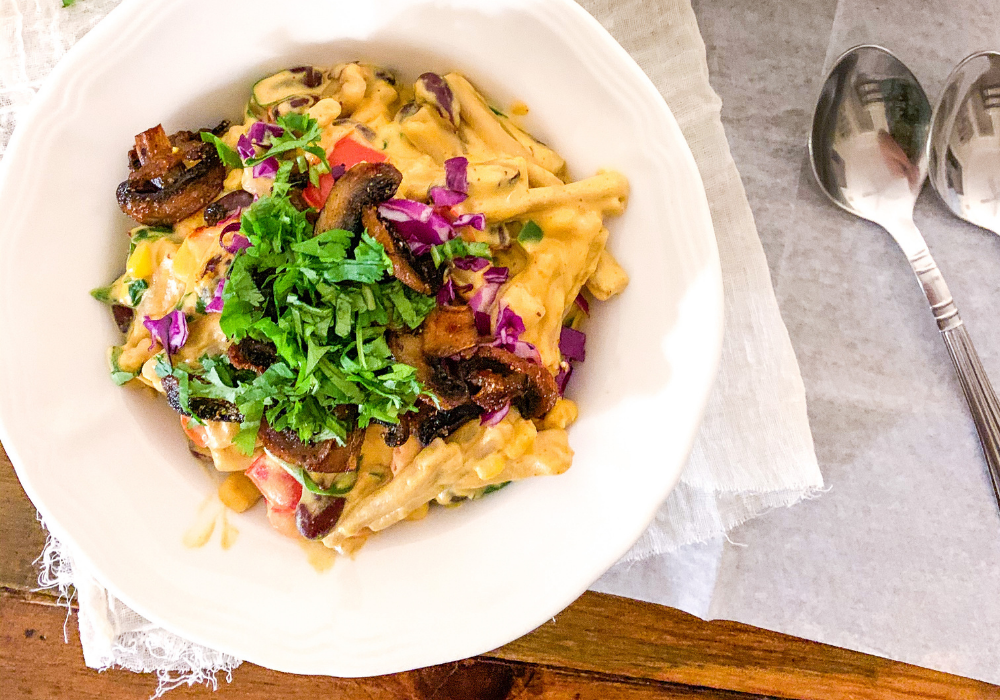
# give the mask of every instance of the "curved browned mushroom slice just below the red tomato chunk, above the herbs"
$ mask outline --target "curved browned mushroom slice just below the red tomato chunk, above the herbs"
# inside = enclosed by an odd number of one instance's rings
[[[330,190],[316,221],[316,232],[358,232],[362,210],[392,197],[402,181],[403,174],[389,163],[358,163]]]

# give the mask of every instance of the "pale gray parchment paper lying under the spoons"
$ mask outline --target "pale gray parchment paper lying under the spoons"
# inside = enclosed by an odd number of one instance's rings
[[[830,490],[597,588],[1000,683],[1000,516],[961,389],[906,260],[823,197],[805,150],[843,50],[889,48],[936,104],[958,61],[1000,50],[1000,3],[694,8]],[[929,186],[915,220],[1000,383],[1000,238],[952,217]]]

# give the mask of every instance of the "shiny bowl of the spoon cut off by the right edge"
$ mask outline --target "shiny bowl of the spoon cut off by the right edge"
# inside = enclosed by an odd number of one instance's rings
[[[1000,53],[974,53],[948,76],[931,125],[930,180],[955,216],[1000,234]]]

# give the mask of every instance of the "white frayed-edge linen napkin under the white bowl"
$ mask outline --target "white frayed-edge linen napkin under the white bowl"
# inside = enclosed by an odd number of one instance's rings
[[[120,0],[0,0],[0,155],[18,112],[56,61]],[[681,482],[623,561],[724,535],[764,510],[809,497],[823,481],[798,365],[709,85],[690,0],[583,0],[670,105],[694,153],[719,243],[726,325],[719,379]],[[240,662],[155,627],[122,605],[54,538],[42,585],[76,589],[88,666],[156,671],[157,696]]]

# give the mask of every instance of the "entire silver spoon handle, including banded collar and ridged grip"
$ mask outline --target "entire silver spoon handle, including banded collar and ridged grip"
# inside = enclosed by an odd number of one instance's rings
[[[920,243],[923,243],[922,239]],[[938,323],[948,354],[951,355],[951,361],[955,363],[962,392],[969,403],[969,411],[976,424],[976,432],[979,433],[979,442],[983,446],[990,481],[993,483],[993,495],[1000,506],[1000,402],[997,401],[990,378],[986,376],[983,363],[979,361],[969,331],[958,315],[958,307],[951,298],[948,285],[926,245],[908,257],[934,312],[934,319]]]

